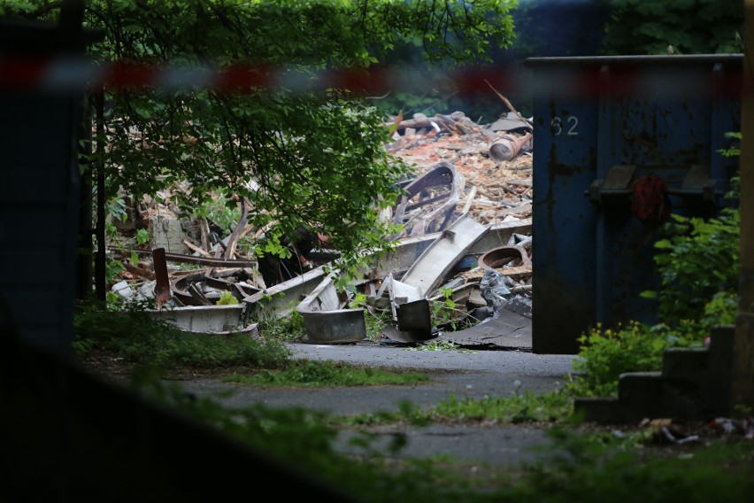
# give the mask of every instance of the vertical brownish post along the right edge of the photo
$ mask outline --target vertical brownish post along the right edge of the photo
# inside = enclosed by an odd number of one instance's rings
[[[754,0],[744,1],[741,175],[741,302],[735,321],[731,411],[754,406]]]

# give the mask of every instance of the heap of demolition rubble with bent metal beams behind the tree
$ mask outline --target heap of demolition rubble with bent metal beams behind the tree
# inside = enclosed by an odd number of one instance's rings
[[[417,176],[404,182],[404,196],[384,215],[403,229],[389,236],[396,251],[352,290],[365,295],[366,309],[390,314],[394,325],[382,334],[397,343],[443,337],[462,345],[530,346],[520,337],[528,330],[530,339],[532,308],[531,122],[515,112],[479,125],[453,112],[399,115],[389,123],[396,132],[386,148],[415,166]],[[261,316],[287,316],[295,308],[310,342],[365,339],[365,308],[350,307],[353,292],[336,290],[325,273],[337,251],[322,236],[309,246],[292,244],[296,263],[276,264],[287,274],[273,278],[253,253],[238,249],[242,238],[264,236],[247,223],[250,205],[240,201],[241,218],[221,237],[212,221],[189,219],[171,204],[184,190],[190,189],[144,196],[127,219],[113,222],[124,236],[136,228],[150,236],[149,247],[109,246],[125,267],[112,285],[119,298],[155,298],[154,317],[192,332],[254,334]]]

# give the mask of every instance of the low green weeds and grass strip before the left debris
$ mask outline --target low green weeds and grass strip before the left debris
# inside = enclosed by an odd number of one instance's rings
[[[267,334],[263,340],[243,334],[212,335],[183,332],[150,318],[146,306],[131,303],[113,311],[96,303],[81,304],[74,318],[73,350],[81,358],[104,352],[137,368],[161,372],[244,368],[226,382],[308,386],[416,384],[425,374],[361,368],[331,361],[291,360],[281,343],[285,336]],[[153,307],[153,306],[152,306]],[[299,315],[300,317],[300,315]],[[113,323],[113,318],[117,322]],[[281,331],[285,325],[273,325]],[[148,382],[148,380],[147,380]]]

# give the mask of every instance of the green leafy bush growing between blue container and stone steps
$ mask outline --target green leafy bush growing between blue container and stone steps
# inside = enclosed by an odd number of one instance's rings
[[[582,396],[615,396],[624,372],[659,370],[670,347],[702,344],[716,325],[732,324],[738,306],[740,218],[726,209],[718,218],[673,214],[655,244],[661,288],[642,295],[658,299],[654,326],[632,321],[596,327],[580,337],[581,375],[570,387]]]

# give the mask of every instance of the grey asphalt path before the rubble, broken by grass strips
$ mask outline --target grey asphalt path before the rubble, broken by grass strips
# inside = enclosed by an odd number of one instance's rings
[[[341,360],[386,368],[412,368],[432,375],[429,383],[412,386],[338,388],[261,388],[199,379],[183,382],[189,392],[213,396],[227,406],[263,403],[270,407],[301,406],[330,414],[367,414],[395,411],[404,401],[422,408],[435,406],[450,395],[456,398],[510,396],[513,392],[554,391],[572,371],[572,355],[539,355],[526,349],[464,352],[409,351],[397,344],[289,344],[295,358]],[[229,396],[220,397],[219,393]],[[550,443],[547,426],[540,424],[381,426],[372,432],[373,446],[387,445],[396,436],[408,439],[396,455],[427,458],[449,455],[456,460],[492,465],[521,465],[549,455],[539,448]],[[348,444],[344,431],[338,447],[362,453]]]

